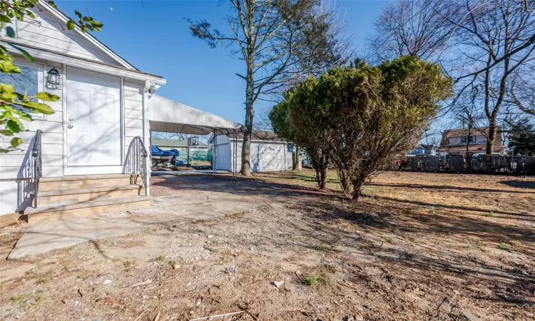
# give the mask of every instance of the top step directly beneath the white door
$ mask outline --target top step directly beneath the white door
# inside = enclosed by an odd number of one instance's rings
[[[130,174],[73,175],[44,177],[39,180],[39,193],[45,190],[62,190],[97,186],[131,185],[141,183],[141,177]]]

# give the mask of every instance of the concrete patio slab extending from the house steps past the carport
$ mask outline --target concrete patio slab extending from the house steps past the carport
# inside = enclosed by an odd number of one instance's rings
[[[136,233],[150,228],[210,220],[224,215],[275,208],[317,197],[317,190],[265,183],[254,178],[232,180],[230,175],[158,175],[151,178],[151,208],[71,218],[30,225],[9,259],[68,248],[100,238]]]

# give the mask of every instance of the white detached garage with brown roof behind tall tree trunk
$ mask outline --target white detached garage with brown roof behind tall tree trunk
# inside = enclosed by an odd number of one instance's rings
[[[238,142],[236,142],[236,140]],[[216,142],[218,170],[231,170],[234,157],[241,168],[243,133],[238,133],[236,140],[233,134],[220,135]],[[212,143],[210,139],[208,143]],[[238,143],[234,155],[234,145]],[[288,143],[277,138],[272,131],[253,131],[250,147],[250,164],[253,172],[269,172],[275,170],[291,170],[294,153],[288,151]]]

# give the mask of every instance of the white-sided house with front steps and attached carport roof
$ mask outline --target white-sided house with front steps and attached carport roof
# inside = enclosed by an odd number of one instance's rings
[[[0,215],[57,220],[150,205],[151,130],[221,135],[245,129],[156,96],[162,76],[138,70],[78,27],[67,30],[68,17],[46,1],[32,11],[35,19],[14,21],[16,39],[9,41],[35,63],[14,50],[24,77],[0,73],[0,81],[60,99],[48,103],[53,114],[24,123],[18,151],[0,154]],[[53,69],[58,84],[47,80]],[[0,140],[9,146],[9,137]]]

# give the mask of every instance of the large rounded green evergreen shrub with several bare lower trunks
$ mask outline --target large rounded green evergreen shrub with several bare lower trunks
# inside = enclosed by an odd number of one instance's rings
[[[356,200],[371,175],[417,143],[452,86],[437,64],[414,56],[359,63],[294,86],[270,118],[277,135],[308,153],[320,188],[332,164]]]

